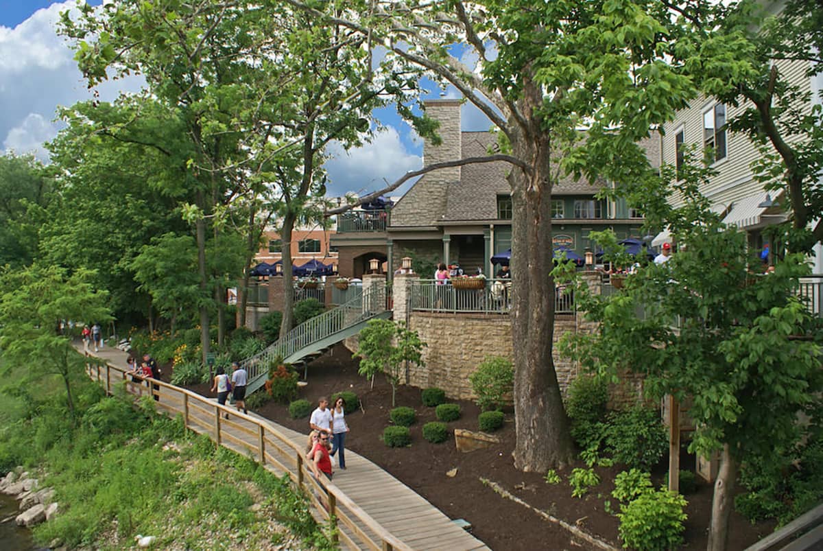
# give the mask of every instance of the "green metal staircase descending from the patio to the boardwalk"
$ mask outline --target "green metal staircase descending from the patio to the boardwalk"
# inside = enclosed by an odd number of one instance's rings
[[[249,374],[246,395],[265,385],[272,359],[282,357],[286,363],[299,362],[360,333],[369,320],[391,317],[392,311],[386,308],[388,292],[388,287],[370,287],[337,308],[291,329],[263,352],[240,362]]]

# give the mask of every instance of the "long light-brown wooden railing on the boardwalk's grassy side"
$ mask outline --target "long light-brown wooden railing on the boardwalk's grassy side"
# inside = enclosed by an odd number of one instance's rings
[[[412,548],[374,521],[334,483],[315,479],[306,465],[305,449],[265,419],[244,415],[163,381],[133,381],[133,376],[128,375],[123,368],[110,366],[108,363],[86,363],[86,372],[93,380],[104,385],[107,394],[113,394],[116,387],[123,385],[126,392],[136,398],[153,395],[159,399],[157,409],[170,417],[179,414],[186,428],[208,434],[218,445],[235,451],[248,451],[267,469],[277,474],[288,474],[292,482],[308,495],[315,518],[322,521],[332,519],[337,528],[335,537],[346,548],[411,551]],[[226,413],[230,415],[229,419],[224,418]],[[244,423],[232,419],[240,419]]]

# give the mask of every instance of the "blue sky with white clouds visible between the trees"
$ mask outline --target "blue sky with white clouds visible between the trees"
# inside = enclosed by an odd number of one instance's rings
[[[100,0],[88,0],[100,5]],[[44,161],[43,143],[54,138],[59,125],[54,119],[58,105],[72,105],[91,97],[81,78],[72,51],[54,26],[61,11],[76,0],[0,0],[0,151],[34,152]],[[459,48],[455,57],[462,55]],[[101,100],[114,100],[120,91],[137,91],[136,77],[105,82],[98,86]],[[423,82],[425,97],[458,97],[453,89],[440,91],[433,82]],[[331,147],[327,162],[330,195],[347,192],[370,193],[422,165],[422,142],[402,122],[393,107],[374,112],[384,129],[364,147],[342,151]],[[489,121],[472,105],[463,106],[463,129],[486,130]],[[394,194],[402,194],[410,184]]]

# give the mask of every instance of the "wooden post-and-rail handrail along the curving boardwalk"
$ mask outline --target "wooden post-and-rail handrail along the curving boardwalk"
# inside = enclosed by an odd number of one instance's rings
[[[307,484],[309,485],[309,488],[312,484],[319,485],[319,487],[323,489],[323,493],[325,493],[325,495],[321,495],[319,497],[309,496],[309,502],[312,503],[319,516],[322,516],[325,519],[333,518],[335,519],[334,522],[336,525],[340,523],[349,529],[351,532],[350,534],[341,533],[345,536],[344,539],[346,540],[346,543],[349,544],[351,549],[361,549],[361,547],[365,545],[365,547],[370,549],[400,549],[402,551],[412,551],[411,547],[392,535],[388,530],[380,525],[378,521],[375,521],[369,513],[358,507],[350,497],[346,496],[346,493],[343,493],[343,491],[337,487],[337,485],[326,480],[314,479],[312,477],[311,470],[305,465],[305,456],[302,447],[297,446],[266,419],[246,415],[225,405],[218,404],[217,402],[207,399],[202,395],[198,395],[191,390],[182,389],[178,386],[152,379],[151,377],[140,377],[139,382],[129,381],[128,378],[132,375],[130,375],[128,371],[122,367],[112,366],[108,362],[102,364],[92,364],[91,362],[86,363],[86,373],[88,376],[90,376],[91,379],[102,383],[105,386],[106,394],[109,395],[114,394],[112,379],[113,371],[115,380],[122,381],[127,392],[137,395],[138,397],[144,394],[150,394],[162,398],[157,404],[158,408],[166,410],[165,413],[170,417],[179,413],[183,417],[183,423],[186,428],[194,432],[205,432],[209,434],[209,437],[212,437],[212,439],[221,446],[230,447],[223,442],[223,437],[242,442],[242,444],[238,445],[244,446],[249,451],[253,451],[261,465],[267,466],[269,469],[273,469],[272,467],[276,466],[277,469],[286,472],[289,474],[291,480],[297,484],[301,490],[305,491]],[[150,383],[150,386],[144,385],[144,382]],[[173,396],[182,402],[180,407],[177,407],[170,402],[170,399],[172,399]],[[202,418],[194,419],[195,416],[193,415],[193,409],[212,412],[209,413],[211,419],[207,419],[205,421]],[[252,423],[255,427],[257,427],[258,438],[256,439],[254,446],[237,437],[236,432],[226,432],[225,435],[223,434],[222,425],[224,423],[234,425],[235,427],[237,426],[236,422],[226,422],[223,419],[223,414],[225,413],[229,413],[232,418],[243,419],[244,421]],[[206,429],[204,427],[206,423],[211,423],[211,427]],[[213,436],[212,431],[214,432]],[[241,432],[251,434],[253,431],[249,430]],[[287,456],[282,459],[290,460],[290,463],[295,463],[296,469],[286,467],[282,460],[274,457],[267,450],[266,442],[268,436],[274,437],[277,440],[277,443],[272,442],[272,444],[274,444],[277,448],[285,450],[291,454],[291,456]],[[271,463],[276,465],[269,465]],[[344,519],[343,521],[337,519],[338,513]],[[351,517],[362,522],[368,530],[373,532],[377,537],[377,541],[372,540],[370,536],[366,534],[365,530],[360,530],[360,528],[356,525],[351,525]],[[356,544],[352,538],[359,539],[360,545]]]

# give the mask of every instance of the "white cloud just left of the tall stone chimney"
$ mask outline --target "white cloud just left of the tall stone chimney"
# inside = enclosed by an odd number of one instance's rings
[[[330,156],[325,164],[330,180],[328,195],[332,197],[347,192],[362,195],[377,191],[385,187],[386,181],[393,183],[423,164],[421,156],[407,151],[393,127],[379,130],[370,143],[348,152],[339,143],[332,142],[327,154]],[[411,183],[403,184],[392,195],[402,195],[409,187]]]

